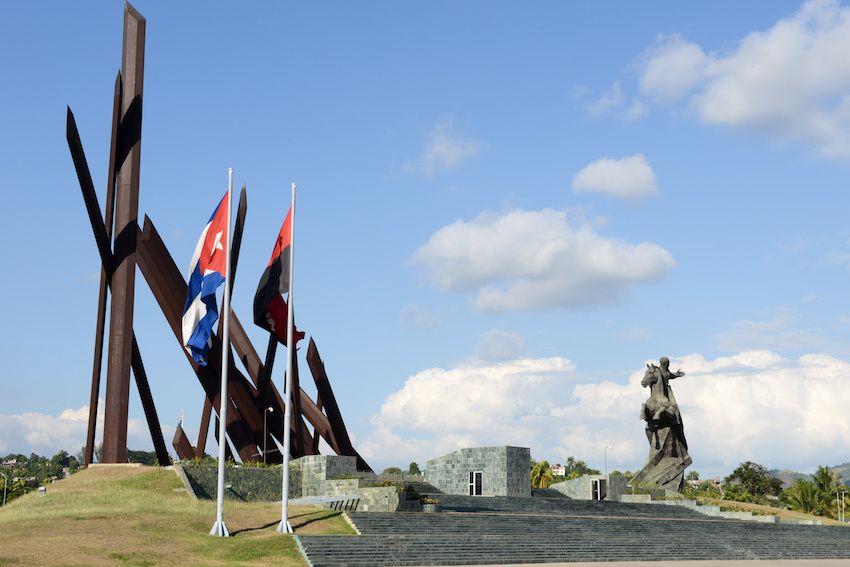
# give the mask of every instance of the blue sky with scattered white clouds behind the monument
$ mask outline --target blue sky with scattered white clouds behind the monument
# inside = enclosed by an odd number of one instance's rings
[[[136,7],[140,214],[185,270],[236,170],[247,322],[298,182],[299,325],[373,466],[510,443],[639,468],[663,355],[704,474],[850,461],[847,6]],[[84,439],[99,265],[64,113],[102,198],[121,23],[101,2],[0,24],[0,453]],[[200,387],[137,281],[166,435],[196,431]],[[149,447],[135,390],[131,417]]]

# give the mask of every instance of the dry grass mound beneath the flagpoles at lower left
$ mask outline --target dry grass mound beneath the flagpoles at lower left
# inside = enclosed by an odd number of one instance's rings
[[[339,512],[291,506],[296,533],[353,534]],[[225,502],[233,537],[208,535],[215,502],[189,497],[174,471],[92,467],[0,508],[0,566],[303,566],[275,532],[280,504]]]

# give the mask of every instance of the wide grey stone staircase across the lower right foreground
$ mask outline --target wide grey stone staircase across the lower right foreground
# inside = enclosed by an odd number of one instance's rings
[[[299,544],[314,567],[850,559],[850,529],[838,526],[715,520],[646,504],[439,498],[440,513],[351,512],[361,535],[299,536]]]

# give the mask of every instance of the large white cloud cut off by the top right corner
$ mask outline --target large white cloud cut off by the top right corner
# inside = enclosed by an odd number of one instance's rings
[[[850,8],[811,0],[752,32],[728,53],[706,53],[680,35],[646,55],[640,90],[661,103],[685,101],[709,124],[802,141],[850,158]]]

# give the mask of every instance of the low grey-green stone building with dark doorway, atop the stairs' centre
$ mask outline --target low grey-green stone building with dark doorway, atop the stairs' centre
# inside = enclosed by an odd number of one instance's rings
[[[531,496],[531,450],[470,447],[431,459],[425,479],[446,494]]]

